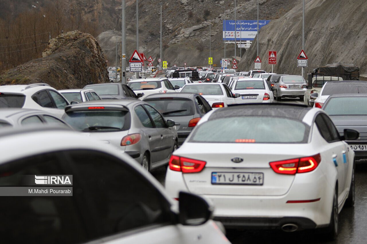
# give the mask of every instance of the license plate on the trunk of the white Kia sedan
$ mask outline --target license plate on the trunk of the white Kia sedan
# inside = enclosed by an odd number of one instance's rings
[[[211,184],[222,185],[262,185],[264,173],[254,172],[212,172]]]

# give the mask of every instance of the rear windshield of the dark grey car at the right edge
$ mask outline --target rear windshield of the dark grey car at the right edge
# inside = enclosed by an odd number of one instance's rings
[[[330,115],[367,115],[367,97],[332,97],[323,106]]]

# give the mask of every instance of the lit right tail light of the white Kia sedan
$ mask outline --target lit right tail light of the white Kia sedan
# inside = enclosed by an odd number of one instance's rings
[[[279,174],[306,173],[317,168],[320,164],[320,154],[311,157],[294,158],[277,162],[270,162],[270,167]]]

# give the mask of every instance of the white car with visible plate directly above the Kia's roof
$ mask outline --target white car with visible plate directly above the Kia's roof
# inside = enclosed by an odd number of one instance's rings
[[[268,82],[263,78],[238,78],[234,79],[230,84],[233,94],[239,93],[240,97],[236,98],[237,103],[248,102],[265,102],[272,103],[274,101],[273,92]]]

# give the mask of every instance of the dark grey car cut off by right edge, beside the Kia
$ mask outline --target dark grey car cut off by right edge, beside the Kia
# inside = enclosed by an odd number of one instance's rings
[[[330,95],[322,106],[333,120],[339,134],[344,135],[344,129],[355,129],[360,137],[357,140],[346,141],[355,158],[367,158],[367,94],[335,94]]]

